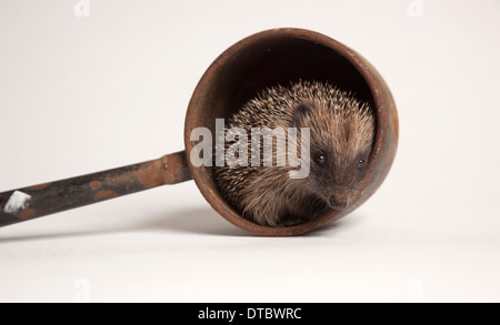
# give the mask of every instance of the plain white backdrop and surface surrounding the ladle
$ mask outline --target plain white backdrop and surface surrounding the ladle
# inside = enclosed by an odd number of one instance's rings
[[[0,191],[181,150],[204,70],[277,27],[377,67],[398,156],[301,237],[236,228],[193,182],[1,228],[0,302],[500,302],[499,0],[77,3],[0,0]]]

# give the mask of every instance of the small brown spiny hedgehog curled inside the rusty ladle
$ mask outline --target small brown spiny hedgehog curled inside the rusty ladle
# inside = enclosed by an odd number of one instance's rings
[[[250,134],[252,128],[264,126],[310,129],[310,173],[291,179],[289,172],[298,167],[288,162],[251,166],[250,154],[248,166],[214,167],[222,195],[243,217],[267,226],[296,225],[327,209],[342,210],[359,194],[374,139],[374,118],[367,103],[328,83],[300,81],[263,90],[229,120],[226,130],[242,128]],[[300,139],[298,132],[297,141],[287,144],[300,152]]]

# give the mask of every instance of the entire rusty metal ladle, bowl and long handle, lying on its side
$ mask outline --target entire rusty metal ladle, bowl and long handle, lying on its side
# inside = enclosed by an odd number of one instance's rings
[[[208,166],[189,156],[197,142],[191,131],[228,118],[260,90],[291,81],[328,81],[371,103],[377,120],[373,152],[360,195],[342,211],[290,227],[268,227],[243,219],[219,193]],[[367,201],[386,179],[398,145],[398,115],[391,92],[377,70],[360,54],[323,34],[302,29],[273,29],[243,39],[226,50],[207,70],[189,103],[182,152],[96,174],[8,191],[0,194],[0,226],[102,202],[166,184],[194,180],[224,219],[258,235],[300,235],[339,220]]]

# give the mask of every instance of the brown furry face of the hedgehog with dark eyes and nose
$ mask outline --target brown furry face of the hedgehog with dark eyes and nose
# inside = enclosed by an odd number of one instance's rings
[[[373,145],[374,119],[369,108],[352,99],[302,102],[294,123],[310,129],[306,186],[329,207],[344,209],[359,194]]]

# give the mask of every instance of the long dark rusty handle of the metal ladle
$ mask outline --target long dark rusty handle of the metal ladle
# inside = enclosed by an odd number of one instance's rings
[[[186,152],[0,194],[0,227],[191,180]]]

